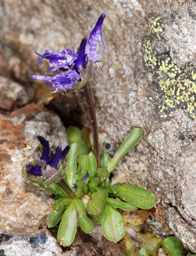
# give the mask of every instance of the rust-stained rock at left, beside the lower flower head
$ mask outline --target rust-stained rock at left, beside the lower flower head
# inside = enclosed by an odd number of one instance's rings
[[[68,144],[59,117],[40,106],[30,104],[0,115],[0,233],[34,234],[54,204],[51,193],[22,173],[39,144],[38,134],[54,144]],[[26,145],[32,149],[26,150]]]

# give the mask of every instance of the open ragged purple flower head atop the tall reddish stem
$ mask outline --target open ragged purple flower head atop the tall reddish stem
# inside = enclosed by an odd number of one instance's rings
[[[57,72],[57,75],[31,75],[31,79],[46,81],[50,90],[80,90],[91,78],[92,64],[100,61],[105,50],[105,43],[103,41],[101,30],[104,18],[105,14],[100,15],[94,29],[88,36],[88,40],[86,38],[82,39],[77,52],[70,49],[65,49],[62,52],[57,50],[46,50],[43,55],[35,52],[41,57],[39,65],[41,65],[43,58],[48,59],[50,71]],[[99,35],[101,37],[103,50],[101,53],[97,54],[96,48]],[[51,84],[51,87],[48,83]]]

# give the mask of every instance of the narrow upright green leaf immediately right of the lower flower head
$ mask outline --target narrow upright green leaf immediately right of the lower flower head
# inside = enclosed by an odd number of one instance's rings
[[[67,157],[66,179],[70,188],[72,187],[72,184],[75,183],[75,180],[76,180],[76,171],[77,171],[76,157],[77,157],[78,150],[79,150],[78,143],[71,144],[68,157]]]

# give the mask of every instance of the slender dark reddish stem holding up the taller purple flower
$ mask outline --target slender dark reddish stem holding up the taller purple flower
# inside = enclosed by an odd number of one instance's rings
[[[99,134],[98,134],[98,127],[97,127],[97,118],[96,113],[94,110],[94,103],[91,95],[91,89],[89,84],[85,84],[84,92],[86,97],[86,102],[88,105],[88,112],[91,119],[91,128],[93,132],[93,142],[94,142],[94,154],[97,160],[97,168],[100,167],[100,148],[99,148]]]

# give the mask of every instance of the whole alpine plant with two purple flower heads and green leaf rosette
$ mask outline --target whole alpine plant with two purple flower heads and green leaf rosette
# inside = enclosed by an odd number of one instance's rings
[[[142,128],[131,131],[113,158],[102,150],[109,134],[97,127],[88,81],[92,65],[100,61],[105,49],[101,30],[104,18],[105,14],[99,17],[88,40],[82,39],[77,52],[70,49],[62,52],[46,50],[43,55],[36,52],[40,56],[39,64],[43,58],[48,59],[50,71],[57,75],[31,76],[45,80],[50,90],[84,90],[91,119],[91,133],[88,128],[82,131],[76,127],[67,129],[70,145],[63,150],[61,145],[53,145],[38,135],[40,144],[34,150],[33,161],[23,169],[28,179],[55,195],[57,202],[47,216],[47,224],[54,227],[60,222],[57,240],[64,246],[73,243],[77,220],[85,233],[93,231],[93,221],[101,224],[105,238],[117,242],[125,236],[124,221],[118,209],[150,209],[156,204],[156,198],[146,189],[120,182],[110,183],[110,173],[140,140]],[[99,36],[103,50],[97,54]]]

